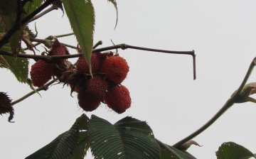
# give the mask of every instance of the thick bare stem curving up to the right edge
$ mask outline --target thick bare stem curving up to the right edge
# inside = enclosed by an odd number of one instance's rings
[[[250,74],[253,70],[253,68],[256,65],[256,57],[252,60],[250,67],[247,70],[247,73],[244,77],[244,79],[242,80],[242,83],[240,84],[240,87],[238,88],[238,90],[235,92],[235,94],[233,94],[232,97],[230,97],[230,99],[228,99],[228,101],[223,105],[223,107],[203,126],[201,126],[201,128],[198,128],[197,131],[191,133],[191,135],[187,136],[186,138],[183,138],[181,141],[178,141],[178,143],[174,144],[174,148],[181,148],[181,146],[190,141],[192,138],[195,138],[196,136],[198,136],[200,133],[202,133],[203,131],[206,130],[206,128],[208,128],[209,126],[211,126],[222,114],[225,113],[225,111],[227,111],[231,106],[233,106],[233,104],[235,104],[235,99],[237,99],[240,95],[240,92],[242,91],[242,88],[245,87],[245,84],[247,82],[247,80],[250,77]]]

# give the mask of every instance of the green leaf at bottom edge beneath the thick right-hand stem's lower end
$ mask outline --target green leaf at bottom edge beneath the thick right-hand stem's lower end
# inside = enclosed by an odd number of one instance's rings
[[[178,150],[174,147],[169,146],[171,152],[166,150],[165,148],[161,148],[161,159],[196,159],[190,153],[186,151]]]

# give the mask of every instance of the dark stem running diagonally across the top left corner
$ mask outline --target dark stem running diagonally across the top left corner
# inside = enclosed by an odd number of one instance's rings
[[[46,9],[46,7],[49,6],[53,1],[55,1],[55,0],[48,0],[48,1],[46,1],[41,6],[39,6],[35,11],[33,11],[28,16],[23,18],[21,20],[21,23],[14,23],[14,26],[12,26],[9,29],[9,31],[4,35],[3,38],[1,38],[1,40],[0,40],[0,48],[4,44],[6,44],[8,42],[9,38],[11,37],[11,35],[14,34],[15,31],[18,31],[18,29],[20,29],[21,26],[23,26],[24,24],[28,23],[31,20],[31,18],[33,18],[34,16],[36,16],[36,14],[40,13],[41,11],[43,11],[43,9]]]

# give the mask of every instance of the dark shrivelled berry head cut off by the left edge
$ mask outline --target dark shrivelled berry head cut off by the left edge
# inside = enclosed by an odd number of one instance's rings
[[[11,106],[11,99],[4,92],[0,92],[0,115],[9,113],[8,121],[14,118],[14,108]]]

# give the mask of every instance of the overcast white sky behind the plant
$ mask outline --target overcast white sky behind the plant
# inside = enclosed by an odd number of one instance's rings
[[[256,2],[252,0],[117,1],[119,22],[115,31],[114,6],[100,0],[93,4],[95,43],[102,40],[102,47],[112,45],[112,39],[116,44],[196,51],[198,78],[194,81],[189,55],[119,50],[130,66],[123,84],[129,88],[132,106],[122,115],[105,105],[87,114],[113,124],[124,116],[147,121],[156,138],[169,145],[196,131],[225,104],[256,55]],[[61,11],[49,13],[36,26],[38,38],[71,32]],[[74,37],[59,40],[76,45]],[[70,53],[76,52],[70,49]],[[8,92],[12,99],[31,91],[26,84],[16,82],[11,72],[1,69],[0,75],[0,91]],[[253,72],[250,82],[255,80]],[[0,118],[1,158],[25,158],[67,131],[82,114],[68,87],[53,85],[40,93],[42,97],[34,94],[14,106],[14,124],[6,115]],[[203,147],[192,146],[188,152],[197,158],[215,158],[221,143],[233,141],[255,153],[255,114],[255,104],[235,104],[194,138]]]

